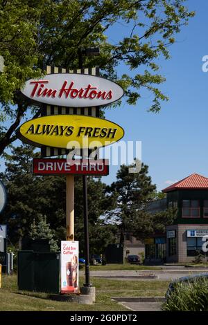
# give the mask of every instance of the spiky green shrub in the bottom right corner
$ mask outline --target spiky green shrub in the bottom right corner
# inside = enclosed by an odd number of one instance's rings
[[[208,311],[208,280],[181,282],[162,306],[165,311]]]

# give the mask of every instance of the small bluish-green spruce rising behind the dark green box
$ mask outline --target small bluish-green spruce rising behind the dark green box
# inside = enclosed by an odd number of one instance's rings
[[[50,228],[50,224],[47,223],[46,216],[41,216],[38,221],[33,219],[29,236],[32,239],[48,239],[51,252],[58,252],[58,241],[54,239],[54,232]]]

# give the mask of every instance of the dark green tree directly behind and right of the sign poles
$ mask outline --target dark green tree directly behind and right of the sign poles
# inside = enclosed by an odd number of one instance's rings
[[[87,203],[89,220],[89,247],[91,254],[102,253],[109,243],[116,241],[117,227],[107,223],[106,214],[115,206],[114,196],[106,194],[106,185],[98,178],[87,180]],[[84,221],[83,221],[83,180],[76,178],[75,185],[75,229],[76,239],[84,252]]]

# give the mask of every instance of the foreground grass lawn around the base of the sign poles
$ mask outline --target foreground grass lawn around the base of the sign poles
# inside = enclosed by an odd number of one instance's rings
[[[80,277],[80,285],[84,277]],[[69,302],[52,301],[47,299],[46,293],[33,293],[17,290],[17,276],[2,277],[0,288],[0,311],[122,311],[128,310],[112,301],[116,296],[164,296],[169,281],[120,281],[92,278],[96,287],[96,303],[94,305],[81,305]]]

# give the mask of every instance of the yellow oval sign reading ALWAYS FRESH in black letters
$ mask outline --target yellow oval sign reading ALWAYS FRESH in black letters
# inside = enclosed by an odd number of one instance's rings
[[[62,149],[94,149],[123,138],[118,124],[85,115],[49,115],[21,125],[19,138],[24,142]]]

